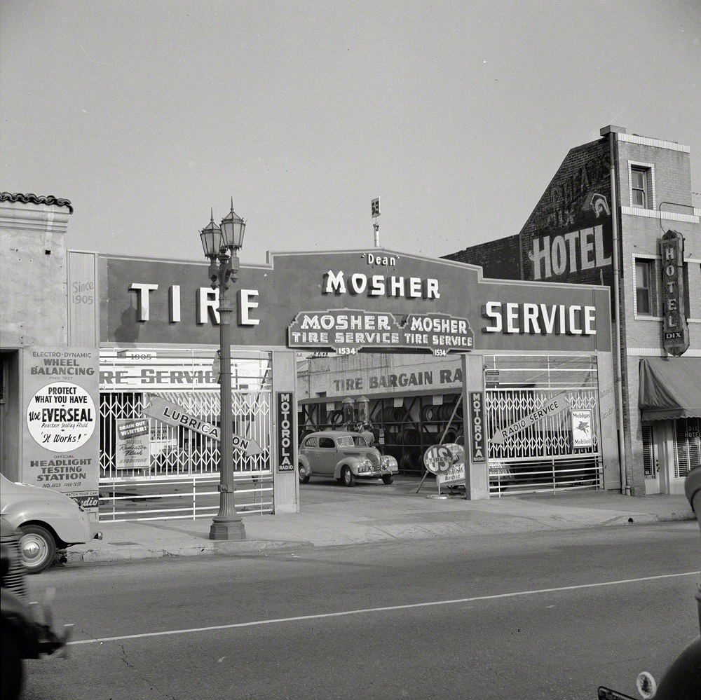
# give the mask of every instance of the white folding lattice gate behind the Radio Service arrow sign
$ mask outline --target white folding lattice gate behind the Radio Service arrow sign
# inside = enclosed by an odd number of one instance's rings
[[[488,435],[517,424],[559,394],[571,409],[512,432],[503,444],[489,442],[490,462],[508,468],[505,481],[490,484],[493,495],[603,488],[596,357],[491,355],[484,359]],[[572,412],[583,420],[575,423]],[[585,439],[576,446],[578,428]]]

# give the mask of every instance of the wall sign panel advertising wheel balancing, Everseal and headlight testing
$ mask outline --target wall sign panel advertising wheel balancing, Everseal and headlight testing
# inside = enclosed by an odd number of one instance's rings
[[[24,351],[22,481],[60,490],[97,512],[100,399],[96,348]]]

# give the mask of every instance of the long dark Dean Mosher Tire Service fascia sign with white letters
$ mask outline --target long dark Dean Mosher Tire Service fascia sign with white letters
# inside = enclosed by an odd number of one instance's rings
[[[242,266],[233,343],[255,348],[610,351],[608,289],[483,280],[447,260],[372,252],[277,253]],[[216,345],[207,263],[100,256],[100,340]]]

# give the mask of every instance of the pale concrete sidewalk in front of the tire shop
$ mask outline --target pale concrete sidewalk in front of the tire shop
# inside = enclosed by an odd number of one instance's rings
[[[693,520],[683,495],[642,498],[596,491],[527,494],[468,501],[437,497],[435,483],[422,486],[398,477],[392,486],[367,483],[304,493],[301,512],[245,515],[246,539],[214,542],[211,519],[100,522],[102,541],[67,549],[67,563],[137,560],[199,554],[260,554],[301,547],[327,547],[388,540],[431,540],[538,530],[566,530],[630,523]]]

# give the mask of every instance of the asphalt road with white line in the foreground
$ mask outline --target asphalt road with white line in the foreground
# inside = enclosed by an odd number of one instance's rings
[[[52,569],[69,659],[26,697],[637,696],[697,636],[695,523]]]

